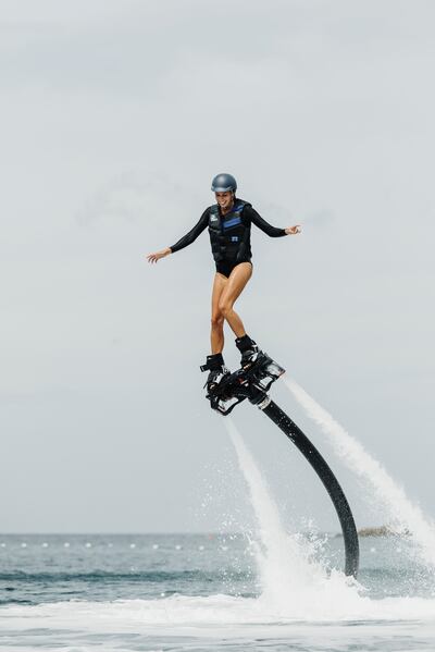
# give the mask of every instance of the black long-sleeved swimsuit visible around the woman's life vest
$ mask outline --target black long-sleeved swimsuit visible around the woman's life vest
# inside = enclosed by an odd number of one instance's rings
[[[237,199],[235,201],[237,201]],[[173,254],[175,254],[175,251],[179,251],[179,249],[184,249],[184,247],[187,247],[188,245],[191,245],[191,243],[197,239],[198,235],[200,235],[200,233],[202,233],[202,231],[204,231],[208,227],[211,209],[212,207],[209,206],[209,208],[207,208],[200,217],[197,224],[195,224],[195,226],[188,233],[186,233],[186,235],[184,235],[177,243],[175,243],[175,245],[172,245],[171,250]],[[223,259],[216,262],[216,272],[223,274],[224,276],[229,276],[233,269],[241,262],[250,262],[252,265],[252,251],[250,246],[251,224],[256,224],[256,226],[261,229],[261,231],[266,233],[270,237],[282,237],[283,235],[286,235],[285,229],[277,229],[276,226],[272,226],[271,224],[269,224],[269,222],[263,220],[263,218],[259,216],[259,213],[250,205],[245,206],[241,219],[245,226],[249,230],[249,239],[246,247],[246,253],[241,260],[236,260],[235,258],[224,256]]]

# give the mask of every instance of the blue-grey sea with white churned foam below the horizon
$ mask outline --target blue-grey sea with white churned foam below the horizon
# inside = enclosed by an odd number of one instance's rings
[[[0,650],[435,650],[435,578],[407,538],[361,539],[358,583],[340,536],[312,543],[294,564],[289,539],[288,566],[239,533],[0,537]]]

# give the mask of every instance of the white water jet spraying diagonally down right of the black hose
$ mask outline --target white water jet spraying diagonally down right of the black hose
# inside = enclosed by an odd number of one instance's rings
[[[335,453],[372,489],[375,500],[387,510],[394,529],[399,533],[410,532],[424,561],[435,565],[435,524],[424,516],[419,505],[407,497],[403,489],[393,480],[383,465],[296,381],[284,378],[284,382],[306,414],[328,436]]]

